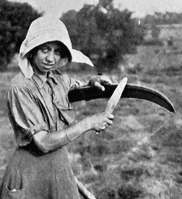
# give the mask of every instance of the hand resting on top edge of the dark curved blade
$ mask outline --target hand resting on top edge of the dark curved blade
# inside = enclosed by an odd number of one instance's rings
[[[92,77],[89,81],[90,86],[95,86],[102,91],[105,91],[104,84],[112,84],[111,79],[107,75],[98,75]]]

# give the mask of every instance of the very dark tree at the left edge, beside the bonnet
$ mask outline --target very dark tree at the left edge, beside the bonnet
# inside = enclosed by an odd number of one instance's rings
[[[7,68],[25,38],[30,23],[41,14],[27,3],[0,2],[0,70]]]

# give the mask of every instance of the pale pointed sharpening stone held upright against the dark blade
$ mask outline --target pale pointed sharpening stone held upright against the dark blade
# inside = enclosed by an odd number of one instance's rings
[[[124,91],[124,88],[127,84],[128,78],[125,77],[121,80],[121,82],[118,84],[118,86],[116,87],[116,89],[114,90],[112,96],[110,97],[110,99],[107,102],[106,108],[105,108],[105,112],[107,113],[112,113],[113,110],[115,109],[115,107],[117,106],[119,99],[121,98],[121,95]]]

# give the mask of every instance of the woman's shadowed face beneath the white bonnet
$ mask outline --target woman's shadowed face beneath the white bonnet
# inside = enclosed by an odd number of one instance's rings
[[[32,64],[34,71],[39,74],[47,74],[63,58],[62,45],[57,42],[47,42],[40,45],[33,55]]]

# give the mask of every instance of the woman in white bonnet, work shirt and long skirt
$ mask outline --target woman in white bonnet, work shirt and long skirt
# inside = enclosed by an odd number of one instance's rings
[[[9,118],[18,144],[4,175],[1,199],[78,199],[66,145],[89,130],[112,124],[112,114],[99,113],[75,122],[68,91],[80,82],[62,74],[60,66],[74,59],[64,24],[40,17],[23,41],[19,73],[7,92]],[[106,78],[90,84],[104,89]]]

